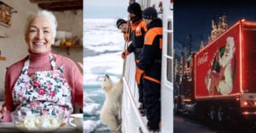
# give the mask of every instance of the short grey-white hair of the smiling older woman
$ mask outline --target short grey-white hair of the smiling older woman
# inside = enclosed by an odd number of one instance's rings
[[[31,20],[36,17],[44,17],[49,20],[49,24],[51,25],[51,29],[53,32],[53,37],[55,37],[58,24],[57,24],[55,15],[49,12],[48,10],[39,10],[37,13],[34,13],[34,12],[27,13],[25,35],[27,33]]]

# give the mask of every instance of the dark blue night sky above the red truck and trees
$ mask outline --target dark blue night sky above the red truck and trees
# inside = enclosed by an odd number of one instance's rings
[[[212,19],[225,14],[228,27],[239,19],[256,21],[256,2],[254,0],[176,0],[174,1],[174,48],[181,49],[182,43],[189,42],[191,34],[192,48],[198,51],[200,42],[208,42],[212,30]],[[255,36],[256,37],[256,36]],[[181,43],[182,42],[182,43]],[[177,54],[179,55],[177,50]]]

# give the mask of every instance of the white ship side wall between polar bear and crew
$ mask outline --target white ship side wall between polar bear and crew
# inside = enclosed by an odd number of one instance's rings
[[[149,133],[146,121],[138,110],[138,88],[135,81],[136,64],[134,54],[126,58],[124,91],[122,100],[122,132],[123,133]]]

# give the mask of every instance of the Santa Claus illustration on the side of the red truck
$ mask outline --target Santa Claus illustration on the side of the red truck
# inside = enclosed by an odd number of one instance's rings
[[[232,58],[236,47],[234,37],[229,36],[226,41],[226,45],[216,53],[212,69],[207,72],[206,85],[210,95],[213,95],[215,91],[218,94],[230,94],[233,88]]]

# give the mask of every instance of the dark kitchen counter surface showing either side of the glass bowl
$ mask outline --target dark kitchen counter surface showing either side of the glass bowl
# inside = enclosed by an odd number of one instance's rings
[[[22,133],[22,131],[18,130],[14,123],[12,122],[0,122],[0,133]],[[75,128],[71,125],[65,125],[58,130],[55,130],[54,133],[83,133],[83,130],[75,130]]]

